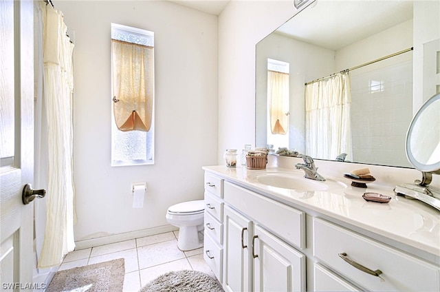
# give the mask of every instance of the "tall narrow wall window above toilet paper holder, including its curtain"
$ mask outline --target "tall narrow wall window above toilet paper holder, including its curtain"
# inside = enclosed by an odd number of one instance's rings
[[[154,33],[111,23],[111,165],[154,163]]]

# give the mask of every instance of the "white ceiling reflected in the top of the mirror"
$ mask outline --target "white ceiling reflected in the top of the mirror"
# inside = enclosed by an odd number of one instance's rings
[[[331,50],[412,19],[412,1],[317,0],[277,32]]]

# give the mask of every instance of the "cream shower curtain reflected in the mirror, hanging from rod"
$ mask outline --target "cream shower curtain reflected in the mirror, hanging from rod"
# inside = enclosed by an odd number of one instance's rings
[[[351,159],[351,88],[348,72],[305,87],[306,153],[334,160],[347,153]]]

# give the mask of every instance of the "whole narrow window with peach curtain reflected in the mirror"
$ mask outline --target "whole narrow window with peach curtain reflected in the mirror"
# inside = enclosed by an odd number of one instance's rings
[[[267,59],[267,144],[289,145],[289,63]]]

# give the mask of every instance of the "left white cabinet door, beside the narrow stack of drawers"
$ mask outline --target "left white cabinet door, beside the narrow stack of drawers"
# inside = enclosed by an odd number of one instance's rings
[[[252,222],[225,206],[223,233],[223,289],[225,291],[250,291]]]

